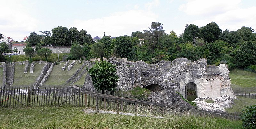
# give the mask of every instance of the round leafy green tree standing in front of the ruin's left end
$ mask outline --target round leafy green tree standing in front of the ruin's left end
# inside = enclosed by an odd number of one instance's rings
[[[118,76],[116,75],[115,65],[106,61],[96,62],[89,70],[89,74],[96,90],[116,90]]]

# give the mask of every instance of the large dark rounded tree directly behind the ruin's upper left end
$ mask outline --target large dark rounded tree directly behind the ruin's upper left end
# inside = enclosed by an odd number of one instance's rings
[[[114,48],[116,56],[119,58],[127,58],[130,51],[132,51],[132,37],[127,35],[116,37]]]

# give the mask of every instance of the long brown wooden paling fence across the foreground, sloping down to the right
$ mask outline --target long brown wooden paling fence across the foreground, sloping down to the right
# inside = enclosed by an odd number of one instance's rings
[[[87,94],[82,91],[87,92]],[[89,94],[89,92],[91,94]],[[99,99],[96,99],[96,95],[99,96]],[[159,108],[159,111],[164,111],[164,108],[167,106],[168,110],[170,110],[170,108],[175,108],[180,111],[200,111],[201,113],[204,112],[204,114],[205,112],[216,114],[216,110],[207,111],[203,108],[195,109],[189,105],[165,102],[160,99],[132,96],[124,94],[123,92],[110,92],[106,90],[96,91],[94,89],[81,87],[0,87],[0,107],[96,107],[96,101],[98,101],[100,108],[113,110],[116,109],[117,99],[119,99],[118,103],[120,103],[122,111],[132,109],[136,101],[139,105],[145,105],[146,103],[148,105],[155,105]],[[217,112],[217,114],[219,114],[217,116],[226,116],[228,119],[239,119],[239,117],[229,115],[227,112]]]

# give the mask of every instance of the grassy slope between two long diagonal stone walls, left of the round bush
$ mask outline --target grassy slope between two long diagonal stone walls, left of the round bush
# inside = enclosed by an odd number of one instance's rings
[[[68,66],[70,63],[72,63],[72,60],[69,61]],[[67,71],[68,66],[64,71],[62,71],[61,68],[64,64],[65,62],[62,62],[61,64],[53,67],[50,77],[46,80],[44,85],[62,85],[77,71],[77,69],[82,66],[82,63],[79,64],[79,62],[76,61],[71,71]]]

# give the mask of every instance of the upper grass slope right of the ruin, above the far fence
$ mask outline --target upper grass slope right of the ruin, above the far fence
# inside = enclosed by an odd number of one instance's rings
[[[229,76],[232,88],[256,88],[256,73],[234,69]]]

